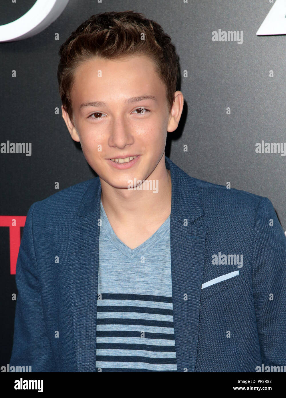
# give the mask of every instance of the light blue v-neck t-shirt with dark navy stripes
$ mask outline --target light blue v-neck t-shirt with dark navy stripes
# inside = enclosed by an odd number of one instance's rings
[[[95,366],[102,372],[177,372],[170,216],[130,249],[101,203]]]

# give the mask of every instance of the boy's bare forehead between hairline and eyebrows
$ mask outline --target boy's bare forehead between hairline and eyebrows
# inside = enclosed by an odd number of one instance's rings
[[[74,72],[74,109],[84,101],[118,101],[146,94],[163,98],[166,94],[154,62],[146,56],[115,60],[94,57],[82,62]]]

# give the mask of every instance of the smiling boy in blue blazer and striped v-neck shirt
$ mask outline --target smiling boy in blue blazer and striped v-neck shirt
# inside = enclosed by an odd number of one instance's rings
[[[142,14],[110,12],[59,54],[62,117],[99,177],[29,209],[10,367],[286,365],[286,238],[271,202],[165,156],[183,109],[170,37]]]

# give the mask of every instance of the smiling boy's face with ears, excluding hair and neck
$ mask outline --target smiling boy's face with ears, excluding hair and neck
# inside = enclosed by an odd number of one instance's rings
[[[98,176],[113,187],[127,188],[128,180],[147,179],[158,164],[165,168],[167,131],[177,128],[183,109],[183,96],[179,97],[169,113],[165,85],[148,57],[96,57],[75,72],[74,126],[63,107],[62,115]],[[83,105],[95,101],[101,103]],[[127,156],[137,158],[123,164],[111,160]]]

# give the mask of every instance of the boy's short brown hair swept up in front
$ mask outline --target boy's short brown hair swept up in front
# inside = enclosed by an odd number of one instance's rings
[[[72,123],[71,91],[76,67],[95,56],[115,59],[134,54],[146,55],[154,61],[156,72],[167,88],[167,101],[171,109],[180,73],[171,37],[144,14],[132,10],[112,11],[92,15],[60,46],[58,87],[62,106]]]

